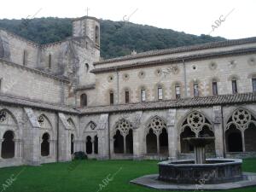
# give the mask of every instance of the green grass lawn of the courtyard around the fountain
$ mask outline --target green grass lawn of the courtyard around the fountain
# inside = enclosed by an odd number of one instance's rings
[[[243,171],[256,172],[256,159],[244,160]],[[137,186],[129,181],[157,172],[157,161],[154,160],[78,160],[36,167],[9,167],[0,169],[0,192],[153,192],[159,190]],[[11,182],[11,178],[19,173],[15,181]],[[256,187],[230,191],[253,192]]]

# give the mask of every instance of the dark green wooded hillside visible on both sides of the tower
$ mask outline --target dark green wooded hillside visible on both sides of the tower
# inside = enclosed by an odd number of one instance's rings
[[[32,20],[0,20],[0,27],[39,44],[63,40],[72,35],[72,19],[39,18]],[[175,48],[191,44],[204,44],[224,38],[195,36],[171,29],[142,26],[125,21],[101,20],[101,56],[105,59],[130,55],[135,49]]]

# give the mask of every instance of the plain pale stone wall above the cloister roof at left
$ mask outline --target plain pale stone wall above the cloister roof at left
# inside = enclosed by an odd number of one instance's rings
[[[40,71],[0,61],[1,92],[32,100],[67,104],[68,82]]]

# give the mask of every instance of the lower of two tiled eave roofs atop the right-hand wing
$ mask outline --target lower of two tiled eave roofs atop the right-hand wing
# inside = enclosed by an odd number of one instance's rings
[[[203,53],[203,54],[194,54],[194,55],[184,55],[178,57],[172,57],[162,60],[152,60],[152,61],[137,61],[129,64],[123,64],[118,66],[111,66],[111,67],[99,67],[92,69],[91,73],[102,73],[102,72],[110,72],[116,69],[126,69],[132,67],[144,67],[144,66],[152,66],[156,64],[163,64],[163,63],[180,63],[183,61],[198,61],[198,60],[205,60],[211,59],[216,57],[224,57],[230,55],[246,55],[246,54],[253,54],[256,53],[256,47],[254,48],[247,48],[247,49],[234,49],[234,50],[227,50],[227,51],[218,51],[212,53]]]

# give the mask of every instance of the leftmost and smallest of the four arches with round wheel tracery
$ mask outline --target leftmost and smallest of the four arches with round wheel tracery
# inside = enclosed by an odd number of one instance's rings
[[[115,154],[133,153],[133,126],[127,119],[119,119],[113,127],[113,152]]]

